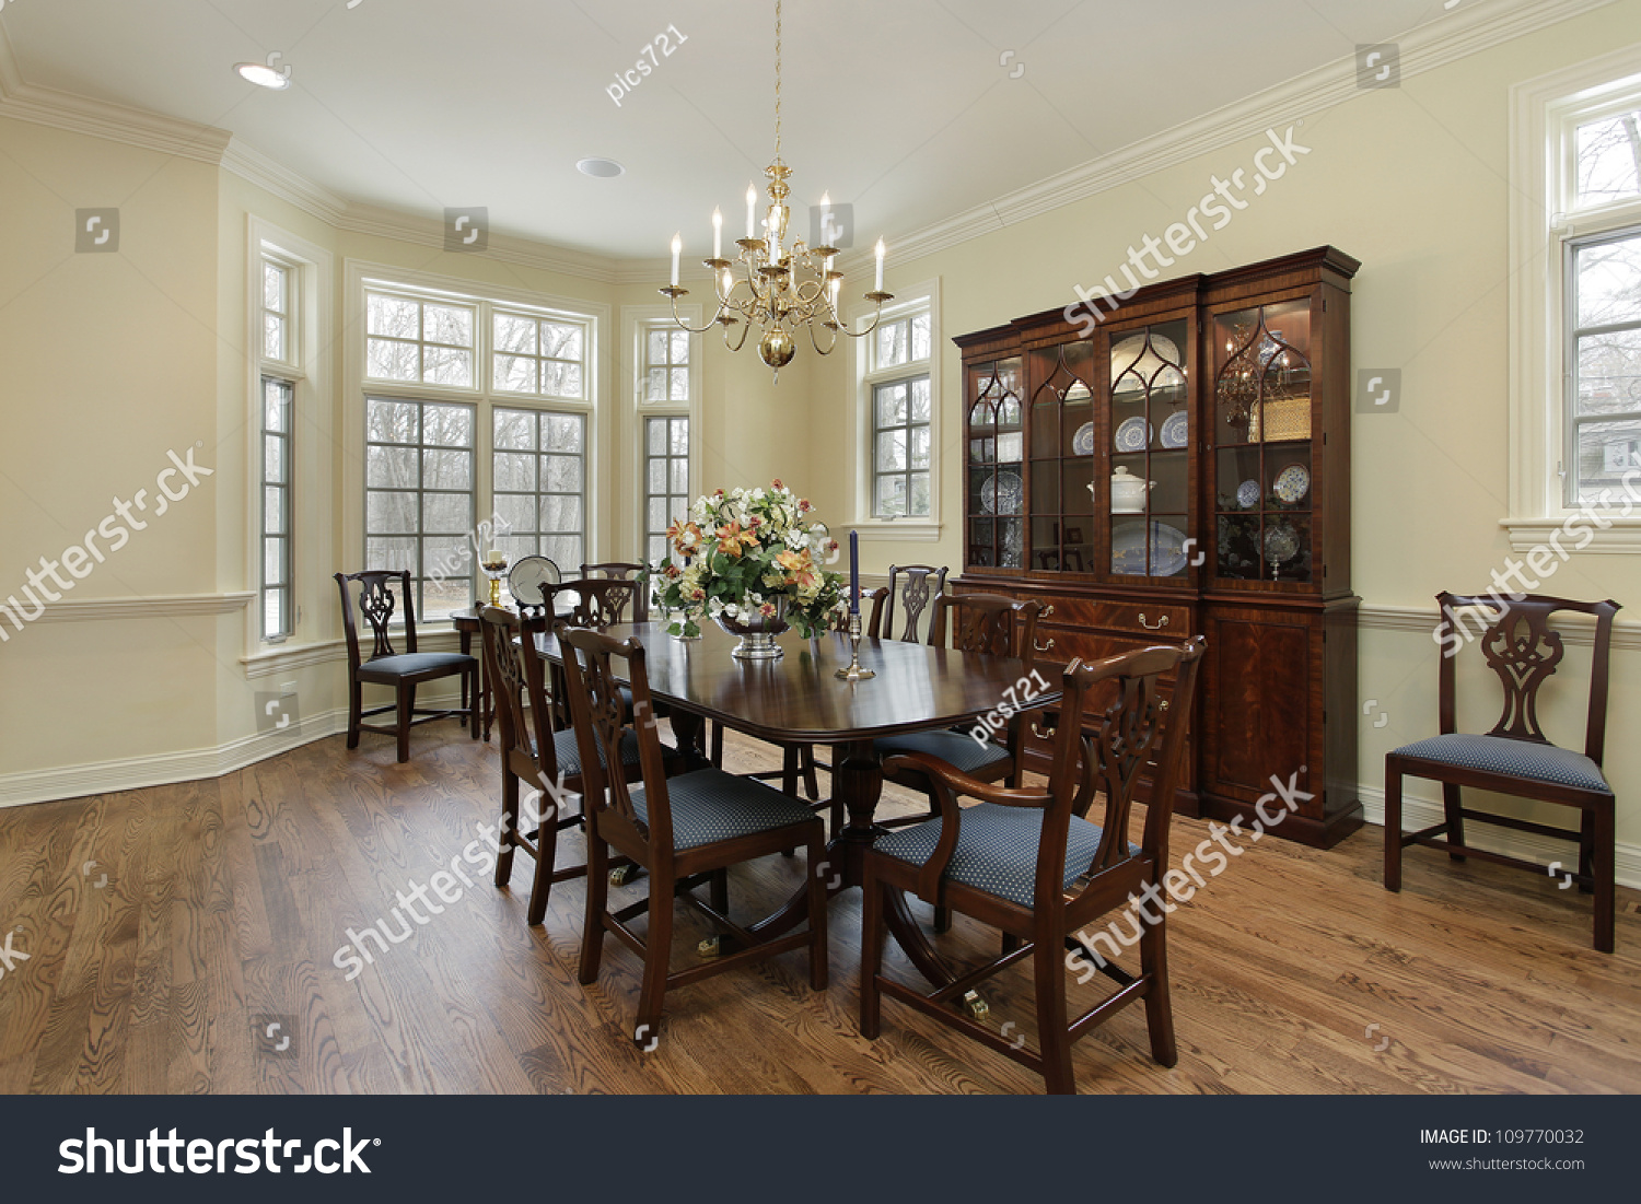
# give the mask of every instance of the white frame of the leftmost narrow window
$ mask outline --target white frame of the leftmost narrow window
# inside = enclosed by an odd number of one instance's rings
[[[333,271],[331,254],[322,246],[254,215],[246,220],[245,239],[245,328],[246,328],[246,492],[245,492],[245,581],[256,602],[246,607],[245,650],[248,669],[259,661],[289,654],[295,646],[317,643],[315,615],[330,613],[322,604],[322,586],[330,586],[331,523],[335,495],[331,461],[317,453],[328,446],[333,415]],[[287,326],[284,361],[263,354],[263,261],[286,267]],[[263,377],[290,382],[290,443],[287,464],[289,500],[289,581],[290,632],[284,638],[263,638]]]

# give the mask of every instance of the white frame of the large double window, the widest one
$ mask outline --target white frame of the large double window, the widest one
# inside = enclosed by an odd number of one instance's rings
[[[604,389],[604,340],[609,328],[607,305],[573,297],[507,289],[461,277],[422,272],[363,259],[345,261],[346,330],[343,348],[343,379],[346,381],[346,422],[343,426],[343,550],[350,564],[363,564],[364,558],[364,446],[366,446],[366,397],[404,400],[461,400],[474,405],[474,466],[473,502],[474,520],[484,522],[496,509],[494,467],[494,410],[537,410],[543,413],[586,415],[586,500],[583,504],[583,554],[589,561],[601,548],[602,531],[602,472],[601,449],[607,438],[602,404]],[[364,358],[364,294],[399,292],[423,300],[453,300],[474,307],[474,377],[473,387],[414,384],[407,381],[377,381],[366,376]],[[492,315],[530,313],[555,322],[576,322],[586,328],[583,340],[584,400],[546,397],[540,394],[497,392],[491,384],[492,371]],[[487,509],[486,509],[487,507]],[[565,572],[579,571],[579,564],[560,564]],[[478,589],[478,558],[474,558],[474,589]]]

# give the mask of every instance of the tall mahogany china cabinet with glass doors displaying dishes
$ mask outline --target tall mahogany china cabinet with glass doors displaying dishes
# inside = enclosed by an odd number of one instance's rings
[[[1357,267],[1318,248],[955,340],[965,530],[952,589],[1039,599],[1044,668],[1206,635],[1177,807],[1252,825],[1277,778],[1298,809],[1275,832],[1323,846],[1362,823]],[[1264,827],[1280,810],[1267,800]]]

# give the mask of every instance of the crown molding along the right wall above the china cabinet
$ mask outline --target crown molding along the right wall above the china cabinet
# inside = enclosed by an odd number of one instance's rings
[[[1423,75],[1470,54],[1561,25],[1611,3],[1616,0],[1528,0],[1526,3],[1482,0],[1482,3],[1446,13],[1401,34],[1396,41],[1401,52],[1401,77],[1406,80]],[[884,261],[901,266],[945,251],[958,243],[1073,205],[1167,167],[1190,162],[1209,151],[1262,135],[1275,125],[1296,125],[1301,118],[1357,97],[1360,97],[1360,90],[1355,85],[1355,56],[1351,54],[1150,138],[1129,143],[1108,156],[901,235],[894,239]],[[847,256],[843,271],[858,271],[860,264],[868,261],[868,251],[857,251]]]

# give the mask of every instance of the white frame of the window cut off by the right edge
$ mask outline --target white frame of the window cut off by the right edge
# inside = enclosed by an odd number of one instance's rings
[[[1510,513],[1515,551],[1544,543],[1577,507],[1561,469],[1572,364],[1569,244],[1641,225],[1641,198],[1572,210],[1579,125],[1641,100],[1641,43],[1510,90]],[[1641,515],[1608,515],[1587,553],[1641,551]],[[1582,533],[1580,533],[1582,538]]]

